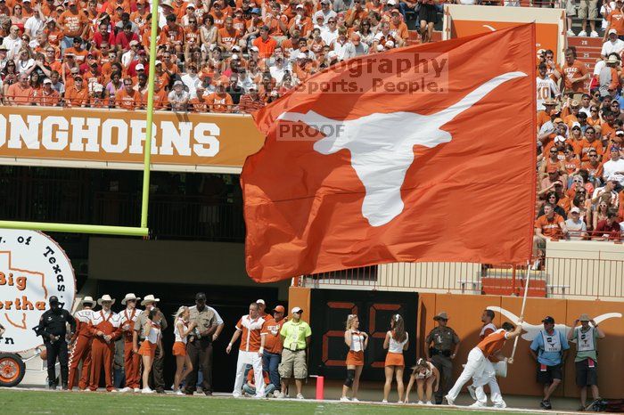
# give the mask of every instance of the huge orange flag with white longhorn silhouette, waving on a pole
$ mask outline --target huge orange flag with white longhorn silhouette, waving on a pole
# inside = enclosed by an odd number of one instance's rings
[[[259,110],[247,272],[528,260],[535,79],[531,24],[344,61]]]

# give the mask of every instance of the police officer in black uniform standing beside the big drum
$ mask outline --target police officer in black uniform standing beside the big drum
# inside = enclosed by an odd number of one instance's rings
[[[67,324],[70,324],[70,333],[67,332]],[[61,379],[63,390],[67,389],[69,379],[67,340],[76,331],[76,320],[70,312],[61,308],[59,299],[50,297],[50,309],[39,320],[38,334],[44,338],[45,351],[47,352],[47,381],[50,389],[56,389],[54,380],[56,372],[54,365],[58,357],[61,364]]]

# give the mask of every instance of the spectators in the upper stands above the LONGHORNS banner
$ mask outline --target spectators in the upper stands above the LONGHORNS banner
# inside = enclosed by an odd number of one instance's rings
[[[423,39],[438,8],[418,4]],[[397,0],[164,0],[156,110],[250,112],[316,71],[406,45]],[[146,0],[0,0],[5,105],[142,109],[152,13]]]

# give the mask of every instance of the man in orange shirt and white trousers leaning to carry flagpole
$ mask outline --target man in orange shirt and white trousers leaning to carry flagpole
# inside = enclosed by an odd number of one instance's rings
[[[496,330],[494,333],[489,334],[489,336],[481,340],[468,354],[468,362],[466,362],[464,371],[459,375],[459,378],[457,378],[455,386],[448,391],[448,395],[445,396],[448,404],[455,404],[457,395],[459,395],[462,387],[472,378],[474,387],[479,388],[489,384],[490,399],[494,403],[494,406],[496,408],[505,408],[506,404],[505,401],[503,401],[503,395],[500,393],[496,374],[492,370],[488,370],[488,358],[490,356],[495,356],[498,360],[504,361],[506,358],[501,354],[501,350],[503,346],[505,346],[505,342],[512,338],[517,338],[521,335],[521,332],[522,318],[520,318],[518,325],[515,327],[512,323],[505,321],[502,329]],[[508,362],[513,362],[513,358],[510,358]]]

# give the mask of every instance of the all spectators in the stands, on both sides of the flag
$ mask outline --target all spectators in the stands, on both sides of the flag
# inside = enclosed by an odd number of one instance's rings
[[[430,42],[441,4],[164,0],[157,22],[154,108],[258,110],[338,61]],[[600,9],[595,2],[573,0],[541,5],[566,9],[568,36],[575,35],[571,19],[578,16],[579,36],[587,36],[589,25],[590,36],[603,31],[605,42],[593,74],[574,48],[562,65],[553,51],[538,53],[538,256],[547,237],[620,240],[624,226],[623,3]],[[0,0],[2,102],[143,109],[150,8],[146,0]],[[410,37],[409,20],[416,20],[419,40]]]

